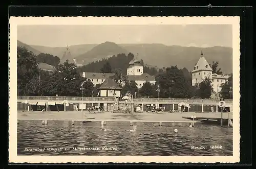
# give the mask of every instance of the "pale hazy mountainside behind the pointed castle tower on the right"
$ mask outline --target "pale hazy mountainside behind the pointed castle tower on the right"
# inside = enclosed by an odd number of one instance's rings
[[[119,44],[128,52],[137,54],[144,63],[156,65],[159,68],[177,65],[186,67],[189,71],[200,58],[201,51],[208,63],[219,61],[219,67],[225,73],[232,72],[232,49],[230,47],[183,47],[166,46],[163,44]]]

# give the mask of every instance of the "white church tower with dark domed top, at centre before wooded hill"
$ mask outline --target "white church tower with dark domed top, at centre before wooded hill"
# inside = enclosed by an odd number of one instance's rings
[[[143,65],[141,65],[137,57],[129,62],[129,67],[127,68],[128,76],[140,76],[143,74]]]

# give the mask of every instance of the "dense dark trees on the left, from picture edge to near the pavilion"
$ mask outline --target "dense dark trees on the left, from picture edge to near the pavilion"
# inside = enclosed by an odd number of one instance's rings
[[[42,78],[44,77],[44,78]],[[77,67],[67,60],[53,74],[38,68],[36,56],[25,47],[17,47],[18,95],[91,96],[92,82],[82,78]]]

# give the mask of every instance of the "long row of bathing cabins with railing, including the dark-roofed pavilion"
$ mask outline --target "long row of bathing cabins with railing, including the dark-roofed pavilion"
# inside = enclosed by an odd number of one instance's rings
[[[106,79],[99,87],[98,97],[72,97],[72,96],[18,96],[18,111],[83,111],[91,106],[111,111],[112,105],[120,102],[121,88],[113,79]],[[114,98],[114,95],[116,99]],[[218,112],[219,100],[214,99],[157,99],[132,98],[134,104],[140,105],[142,111],[148,106],[162,107],[164,111],[181,110],[184,112]],[[227,110],[232,106],[232,100],[225,100]],[[181,104],[182,103],[182,104]],[[182,106],[180,106],[182,105]]]

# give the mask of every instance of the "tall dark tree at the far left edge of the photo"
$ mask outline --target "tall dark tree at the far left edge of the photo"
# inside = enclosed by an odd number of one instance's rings
[[[25,47],[17,47],[17,89],[18,95],[26,94],[26,85],[39,77],[38,63],[32,52]]]

